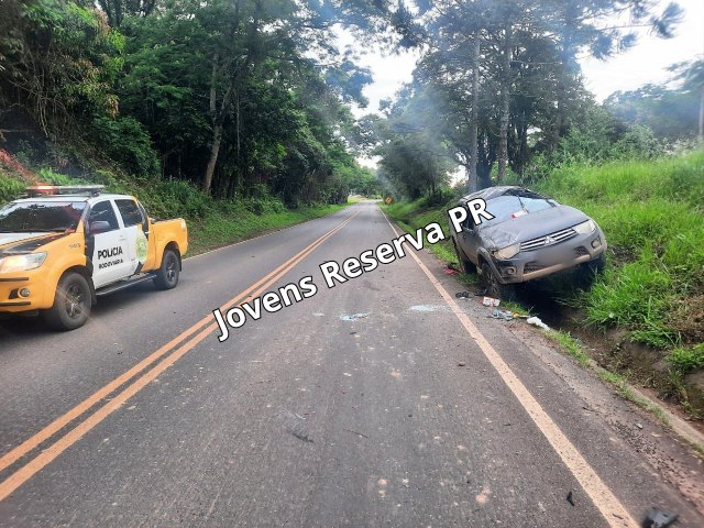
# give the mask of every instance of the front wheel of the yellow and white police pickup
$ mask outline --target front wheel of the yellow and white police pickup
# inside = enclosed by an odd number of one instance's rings
[[[44,320],[54,330],[82,327],[92,307],[90,285],[79,273],[67,273],[58,282],[54,306],[44,312]]]

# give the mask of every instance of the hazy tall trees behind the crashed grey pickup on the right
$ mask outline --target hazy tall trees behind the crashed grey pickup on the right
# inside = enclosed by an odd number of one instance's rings
[[[682,15],[676,4],[664,9],[658,2],[628,0],[415,4],[416,11],[399,10],[394,18],[404,35],[402,43],[420,55],[414,80],[389,102],[385,119],[370,117],[363,123],[382,156],[383,176],[399,195],[436,193],[437,184],[449,179],[452,165],[462,167],[469,188],[476,189],[505,182],[510,172],[535,172],[536,164],[625,158],[641,147],[652,155],[663,151],[662,139],[696,134],[692,110],[704,82],[700,74],[692,75],[695,64],[680,65],[684,82],[666,90],[671,100],[654,94],[620,94],[598,106],[582,85],[578,63],[580,55],[605,58],[635,45],[637,28],[670,37]],[[681,119],[685,113],[688,118]],[[603,141],[592,133],[594,125],[608,132]],[[406,168],[399,167],[400,157]],[[429,157],[443,158],[444,166],[416,162]]]

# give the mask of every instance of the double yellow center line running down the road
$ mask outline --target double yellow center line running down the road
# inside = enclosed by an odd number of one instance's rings
[[[320,246],[328,239],[333,237],[338,231],[348,226],[358,215],[359,210],[353,212],[342,223],[314,241],[302,251],[290,257],[276,270],[258,279],[256,283],[246,288],[244,292],[240,293],[234,298],[230,299],[228,302],[220,307],[220,310],[227,311],[234,306],[239,306],[263,294],[270,286],[280,279],[294,266],[299,264],[304,258],[312,253],[318,246]],[[0,472],[4,471],[10,465],[14,464],[16,461],[36,449],[38,446],[50,440],[54,435],[64,429],[75,419],[82,416],[96,404],[102,402],[120,387],[129,383],[129,385],[125,386],[119,394],[112,397],[109,402],[105,403],[91,415],[82,419],[66,435],[61,437],[54,443],[50,444],[46,449],[42,450],[40,454],[30,460],[25,465],[18,469],[8,479],[0,483],[0,501],[3,501],[8,495],[13,493],[18,487],[29,481],[59,454],[66,451],[78,440],[80,440],[88,431],[100,424],[110,414],[119,409],[128,399],[139,393],[150,382],[158,377],[164,371],[166,371],[169,366],[172,366],[180,358],[183,358],[184,354],[186,354],[188,351],[193,350],[197,344],[204,341],[217,328],[218,323],[213,322],[211,315],[204,317],[200,321],[183,331],[179,336],[146,356],[132,369],[116,377],[113,381],[90,395],[68,413],[64,414],[63,416],[51,422],[48,426],[44,427],[36,435],[6,453],[2,458],[0,458]],[[148,371],[143,373],[144,370],[156,363],[158,360],[161,361],[156,365],[152,366]]]

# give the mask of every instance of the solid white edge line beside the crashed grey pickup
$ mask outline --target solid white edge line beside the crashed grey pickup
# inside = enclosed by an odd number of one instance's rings
[[[398,237],[399,233],[396,231],[381,207],[380,211],[386,219],[386,222],[388,222],[394,234]],[[432,275],[432,272],[428,270],[415,252],[409,252],[408,254],[413,256],[420,270],[426,274],[430,283],[432,283],[438,293],[446,300],[448,306],[452,308],[452,312],[458,317],[470,337],[477,344],[516,399],[518,399],[518,403],[531,418],[536,427],[538,427],[540,432],[542,432],[543,437],[560,457],[564,465],[570,470],[572,475],[574,475],[582,488],[590,496],[592,503],[600,510],[606,522],[608,522],[610,527],[639,527],[640,525],[636,522],[626,507],[620,503],[620,501],[618,501],[608,486],[604,484],[598,474],[592,469],[580,451],[562,432],[560,427],[552,420],[552,418],[550,418],[548,413],[546,413],[546,410],[540,406],[538,400],[532,396],[532,394],[530,394],[518,376],[514,374],[508,364],[506,364],[503,358],[490,344],[484,334],[482,334],[482,332],[474,326],[472,320],[454,301],[452,296],[444,289],[435,275]]]

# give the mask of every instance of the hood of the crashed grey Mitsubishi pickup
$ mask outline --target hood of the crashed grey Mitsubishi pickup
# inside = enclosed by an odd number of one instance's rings
[[[492,204],[486,208],[492,211]],[[480,228],[480,235],[492,249],[501,250],[507,245],[527,242],[539,237],[544,237],[562,229],[571,228],[588,220],[590,217],[570,206],[558,206],[541,211],[512,218],[504,222],[487,223]]]

